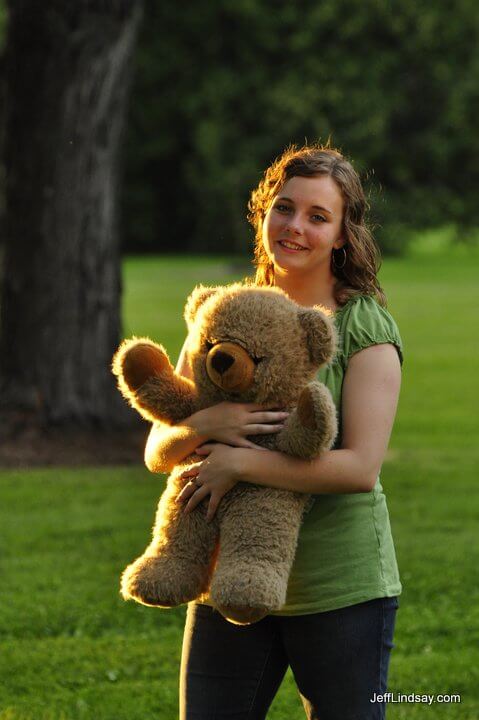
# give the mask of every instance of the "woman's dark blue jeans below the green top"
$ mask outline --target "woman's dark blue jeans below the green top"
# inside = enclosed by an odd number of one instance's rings
[[[233,625],[188,608],[181,720],[263,720],[288,668],[309,720],[382,720],[397,598]]]

